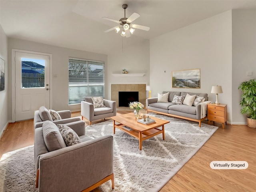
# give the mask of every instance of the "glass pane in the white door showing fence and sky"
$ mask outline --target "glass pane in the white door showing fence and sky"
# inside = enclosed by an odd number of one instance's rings
[[[44,66],[42,59],[21,59],[22,88],[44,87]]]

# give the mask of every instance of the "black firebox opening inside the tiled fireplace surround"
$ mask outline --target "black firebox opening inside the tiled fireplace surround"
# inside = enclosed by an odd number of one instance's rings
[[[138,91],[120,91],[118,92],[118,106],[128,107],[130,102],[139,101]]]

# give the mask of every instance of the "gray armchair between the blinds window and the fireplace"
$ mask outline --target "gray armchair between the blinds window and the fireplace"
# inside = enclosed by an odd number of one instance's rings
[[[81,102],[82,120],[85,118],[92,124],[92,121],[116,116],[116,102],[104,99],[104,107],[94,108],[92,98],[86,97]]]

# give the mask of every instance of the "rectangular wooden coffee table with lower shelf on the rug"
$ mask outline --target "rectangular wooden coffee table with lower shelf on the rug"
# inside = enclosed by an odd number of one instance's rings
[[[150,118],[154,119],[155,122],[144,125],[139,123],[137,118],[134,117],[134,113],[128,113],[124,115],[113,116],[111,119],[113,120],[114,134],[116,132],[116,128],[128,133],[129,135],[139,139],[140,150],[142,149],[142,141],[154,137],[158,134],[163,134],[164,140],[164,125],[169,123],[170,121],[162,120],[159,118],[155,118],[150,116]],[[118,122],[119,124],[116,124]],[[128,128],[125,128],[128,127]],[[162,127],[162,129],[160,129]]]

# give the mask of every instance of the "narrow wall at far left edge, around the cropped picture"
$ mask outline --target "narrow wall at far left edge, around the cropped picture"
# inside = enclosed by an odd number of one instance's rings
[[[0,137],[8,125],[8,38],[0,25],[0,58],[2,58],[5,63],[5,87],[3,91],[0,91]]]

